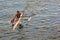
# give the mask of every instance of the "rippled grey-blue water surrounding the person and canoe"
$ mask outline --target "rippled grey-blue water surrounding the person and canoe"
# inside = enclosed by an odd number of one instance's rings
[[[16,11],[24,11],[18,31],[12,31],[8,21]],[[60,40],[60,0],[0,0],[0,40]]]

